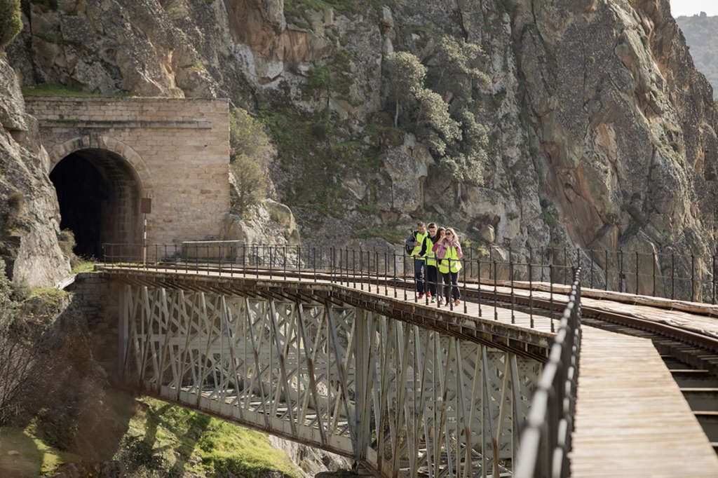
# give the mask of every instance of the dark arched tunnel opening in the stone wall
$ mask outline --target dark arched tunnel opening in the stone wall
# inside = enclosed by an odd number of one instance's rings
[[[75,234],[75,254],[102,258],[103,243],[141,243],[141,184],[122,156],[80,149],[57,163],[50,180],[60,202],[60,228]]]

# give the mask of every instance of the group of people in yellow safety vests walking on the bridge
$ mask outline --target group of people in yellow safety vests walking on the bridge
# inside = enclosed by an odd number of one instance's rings
[[[419,299],[424,294],[439,305],[459,305],[459,286],[457,280],[461,270],[460,259],[462,253],[459,238],[452,228],[437,227],[436,223],[429,222],[427,228],[424,222],[416,225],[406,240],[406,249],[414,259],[414,277],[416,278],[416,292]],[[443,294],[437,294],[443,282]],[[444,298],[442,298],[442,295]]]

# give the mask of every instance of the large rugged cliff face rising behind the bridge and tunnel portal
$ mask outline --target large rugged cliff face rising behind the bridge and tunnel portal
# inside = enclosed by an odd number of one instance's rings
[[[261,118],[278,150],[274,199],[319,243],[395,242],[423,218],[514,248],[715,250],[718,116],[668,0],[58,0],[23,11],[9,57],[24,85],[226,95]],[[444,37],[482,46],[488,86],[442,81]],[[488,126],[478,184],[453,179],[410,123],[394,127],[393,51],[419,57],[450,111],[469,98]]]

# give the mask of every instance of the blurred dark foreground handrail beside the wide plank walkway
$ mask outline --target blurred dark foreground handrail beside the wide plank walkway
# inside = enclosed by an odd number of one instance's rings
[[[574,429],[581,349],[581,271],[574,274],[571,299],[551,345],[549,362],[533,393],[521,434],[516,478],[563,478]]]

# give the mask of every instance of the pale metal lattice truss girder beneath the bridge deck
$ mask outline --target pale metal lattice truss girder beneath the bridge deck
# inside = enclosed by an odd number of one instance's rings
[[[128,383],[384,476],[505,476],[541,373],[535,360],[328,301],[129,285],[120,301]]]

